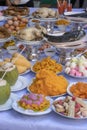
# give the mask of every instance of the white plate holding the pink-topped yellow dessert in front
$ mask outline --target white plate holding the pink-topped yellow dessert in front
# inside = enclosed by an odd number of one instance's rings
[[[49,97],[47,97],[47,99],[50,101],[50,105],[52,104],[53,100]],[[18,100],[14,101],[14,103],[12,104],[12,108],[21,113],[21,114],[25,114],[25,115],[31,115],[31,116],[39,116],[39,115],[45,115],[51,112],[51,107],[49,107],[47,110],[42,111],[42,112],[34,112],[32,110],[25,110],[22,107],[18,106],[17,103]]]

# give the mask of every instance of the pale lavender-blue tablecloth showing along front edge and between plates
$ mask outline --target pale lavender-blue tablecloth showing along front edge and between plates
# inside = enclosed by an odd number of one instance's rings
[[[31,9],[33,11],[33,9]],[[75,82],[73,79],[63,74],[70,82]],[[33,72],[24,75],[27,83],[35,76]],[[81,79],[86,81],[86,79]],[[80,80],[80,81],[81,81]],[[79,81],[79,79],[78,79]],[[27,90],[16,92],[18,95],[26,93]],[[26,116],[14,110],[0,112],[0,130],[87,130],[87,119],[73,120],[63,118],[54,112],[40,116]]]

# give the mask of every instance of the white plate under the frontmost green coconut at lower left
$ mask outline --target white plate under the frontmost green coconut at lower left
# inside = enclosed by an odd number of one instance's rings
[[[17,99],[17,95],[14,94],[14,93],[11,93],[7,102],[3,105],[0,105],[0,111],[6,111],[6,110],[9,110],[9,109],[12,109],[12,103],[15,99]]]

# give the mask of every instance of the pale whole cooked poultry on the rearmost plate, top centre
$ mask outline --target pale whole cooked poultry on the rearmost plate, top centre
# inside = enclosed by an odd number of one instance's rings
[[[56,18],[57,17],[57,12],[53,9],[50,8],[39,8],[35,12],[32,13],[32,16],[34,18]]]

